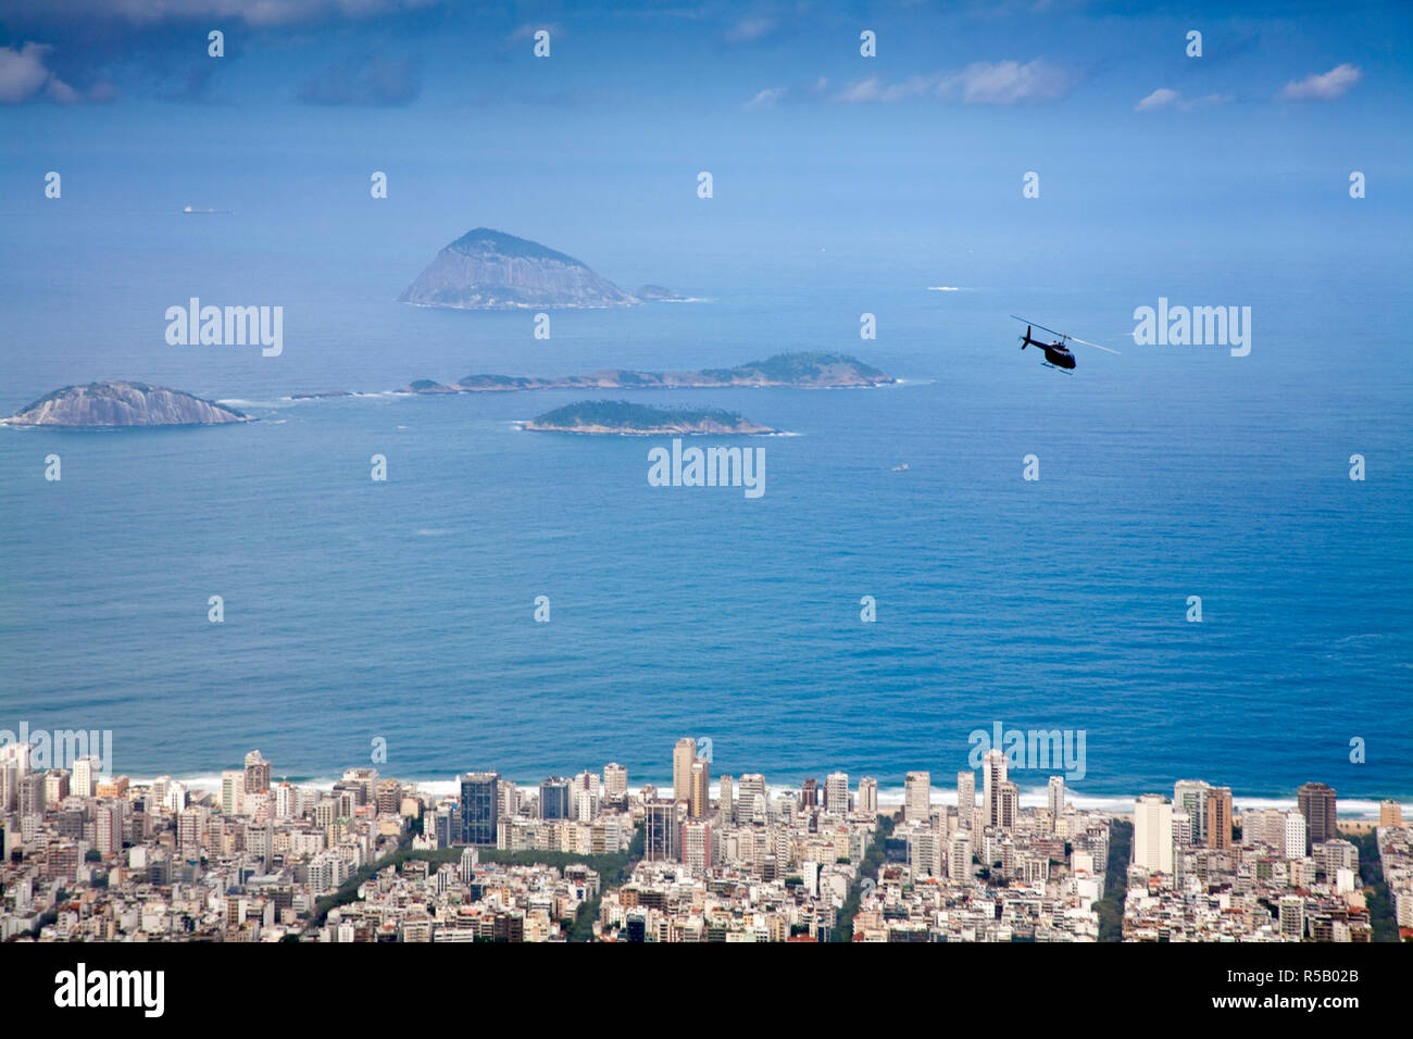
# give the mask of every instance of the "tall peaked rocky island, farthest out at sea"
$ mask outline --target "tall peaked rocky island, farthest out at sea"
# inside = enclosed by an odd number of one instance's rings
[[[630,307],[639,303],[572,256],[490,228],[468,230],[437,253],[397,298],[458,310]]]

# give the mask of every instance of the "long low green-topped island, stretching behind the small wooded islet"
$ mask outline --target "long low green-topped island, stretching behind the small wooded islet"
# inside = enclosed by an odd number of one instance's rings
[[[468,375],[452,385],[418,379],[406,393],[507,393],[512,390],[664,390],[722,389],[729,386],[787,386],[796,389],[844,389],[886,386],[893,376],[846,353],[777,353],[736,368],[708,368],[699,372],[633,372],[613,369],[552,379],[513,375]]]

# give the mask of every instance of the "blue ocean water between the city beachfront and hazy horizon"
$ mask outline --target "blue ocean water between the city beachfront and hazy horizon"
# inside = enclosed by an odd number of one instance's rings
[[[1201,776],[1246,796],[1317,779],[1413,797],[1399,271],[1259,242],[974,263],[805,235],[663,270],[606,242],[584,256],[601,273],[704,301],[557,311],[537,341],[528,314],[393,303],[439,242],[285,218],[7,215],[0,410],[133,377],[261,421],[0,430],[0,727],[113,729],[134,776],[209,775],[252,748],[277,775],[328,776],[382,736],[382,770],[404,777],[619,761],[637,783],[670,776],[691,735],[723,773],[896,786],[909,769],[945,783],[968,734],[1000,721],[1084,729],[1072,787],[1091,796]],[[1133,345],[1133,307],[1160,294],[1251,305],[1251,356]],[[189,295],[283,304],[284,353],[168,346],[162,314]],[[1044,369],[1012,312],[1122,355],[1078,346],[1072,376]],[[903,383],[630,396],[794,434],[750,441],[756,500],[649,486],[663,440],[516,428],[582,393],[384,393],[791,349]],[[373,396],[287,400],[326,389]]]

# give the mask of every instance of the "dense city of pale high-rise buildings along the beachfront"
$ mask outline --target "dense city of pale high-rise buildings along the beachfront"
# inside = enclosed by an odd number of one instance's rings
[[[1022,806],[999,751],[982,762],[981,804],[969,770],[955,804],[916,770],[901,803],[880,806],[872,776],[784,789],[722,775],[714,792],[697,741],[670,761],[671,790],[630,790],[610,762],[536,786],[466,772],[435,793],[374,768],[328,789],[273,782],[252,751],[205,790],[103,776],[88,756],[34,769],[11,744],[0,937],[1368,941],[1371,898],[1413,937],[1402,806],[1344,834],[1323,783],[1293,809],[1238,814],[1231,789],[1184,779],[1171,799],[1139,797],[1129,820],[1075,807],[1061,776]],[[1365,830],[1372,844],[1358,845]],[[1381,892],[1361,847],[1379,858]],[[1104,903],[1118,930],[1105,933]]]

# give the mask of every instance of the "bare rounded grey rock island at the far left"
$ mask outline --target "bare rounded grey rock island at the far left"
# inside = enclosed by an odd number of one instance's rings
[[[254,418],[225,404],[194,397],[181,390],[114,380],[65,386],[0,421],[7,425],[107,428],[216,425],[252,423]]]

